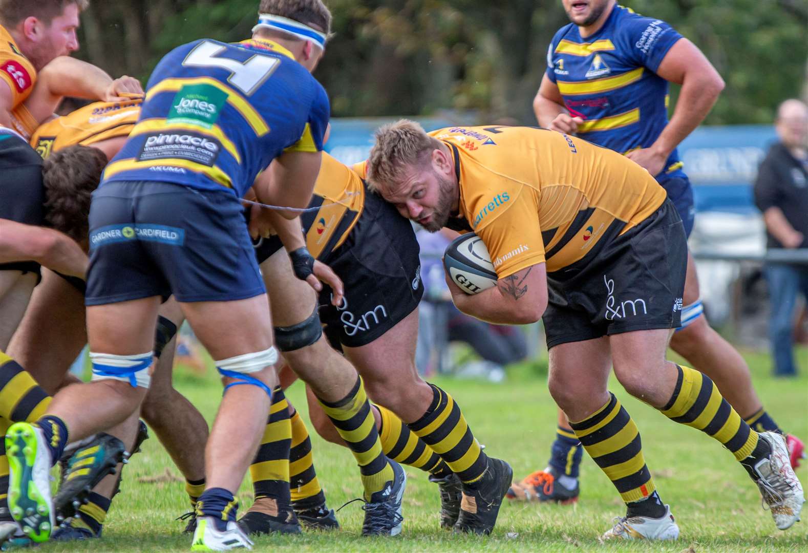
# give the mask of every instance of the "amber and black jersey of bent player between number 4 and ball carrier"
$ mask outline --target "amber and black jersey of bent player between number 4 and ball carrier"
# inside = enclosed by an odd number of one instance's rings
[[[320,209],[301,217],[311,255],[322,260],[345,242],[362,214],[364,194],[360,176],[323,152],[314,196],[309,202],[310,208]]]

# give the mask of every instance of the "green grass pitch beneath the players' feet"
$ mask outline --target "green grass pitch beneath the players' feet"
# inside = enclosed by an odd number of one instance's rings
[[[808,437],[808,350],[799,353],[802,376],[768,377],[768,357],[747,355],[755,386],[772,416],[789,432]],[[208,420],[213,418],[221,387],[213,371],[204,377],[178,371],[177,386]],[[516,477],[545,466],[553,439],[556,408],[545,380],[525,367],[501,384],[439,379],[464,408],[486,452],[504,458]],[[582,493],[574,506],[506,502],[494,534],[488,538],[453,535],[438,528],[437,488],[426,475],[407,467],[404,530],[397,538],[361,538],[362,510],[351,504],[339,514],[335,533],[266,537],[259,551],[808,551],[808,519],[786,532],[777,530],[760,507],[757,488],[732,455],[692,428],[675,424],[630,398],[617,382],[612,390],[632,414],[642,433],[646,461],[663,500],[671,504],[681,529],[673,543],[606,543],[598,535],[624,514],[617,492],[591,459],[584,456]],[[298,382],[288,397],[305,412]],[[245,412],[244,416],[250,416]],[[315,466],[329,505],[361,495],[358,472],[347,450],[313,437]],[[806,463],[808,464],[808,463]],[[808,466],[797,475],[808,483]],[[250,505],[249,483],[242,486],[240,511]],[[92,542],[49,544],[42,551],[189,551],[191,538],[180,534],[175,517],[187,511],[179,472],[154,438],[146,441],[124,472],[123,492],[116,497],[103,538]],[[808,513],[806,513],[808,516]]]

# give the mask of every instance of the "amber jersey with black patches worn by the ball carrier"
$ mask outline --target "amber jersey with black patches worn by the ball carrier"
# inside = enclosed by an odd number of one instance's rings
[[[430,134],[452,149],[461,215],[499,278],[541,262],[553,273],[594,259],[666,198],[637,163],[581,138],[530,127]]]

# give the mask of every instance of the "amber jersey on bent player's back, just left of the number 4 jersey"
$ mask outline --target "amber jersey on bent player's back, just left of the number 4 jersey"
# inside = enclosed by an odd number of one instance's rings
[[[31,146],[43,158],[68,146],[92,146],[107,138],[128,137],[141,113],[142,99],[95,102],[40,125]]]

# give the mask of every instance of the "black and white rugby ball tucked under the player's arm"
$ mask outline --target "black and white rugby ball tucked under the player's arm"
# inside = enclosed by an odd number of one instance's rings
[[[497,283],[488,249],[473,232],[452,240],[444,253],[444,268],[465,293],[480,293]]]

